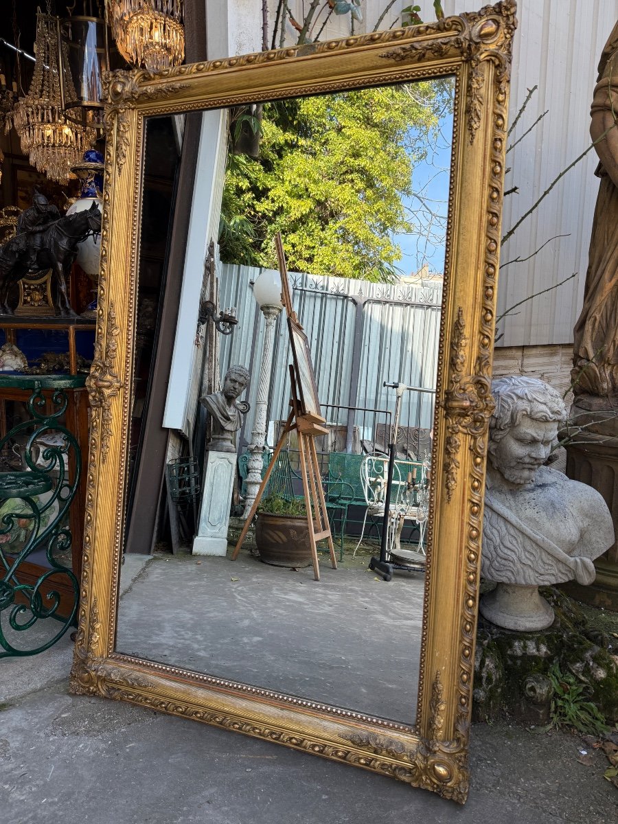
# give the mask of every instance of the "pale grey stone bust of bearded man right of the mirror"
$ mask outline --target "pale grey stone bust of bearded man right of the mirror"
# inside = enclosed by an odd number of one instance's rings
[[[553,611],[539,585],[592,583],[592,560],[614,542],[601,494],[544,466],[566,421],[557,391],[531,377],[492,382],[481,571],[498,583],[480,611],[512,630],[541,630]]]

